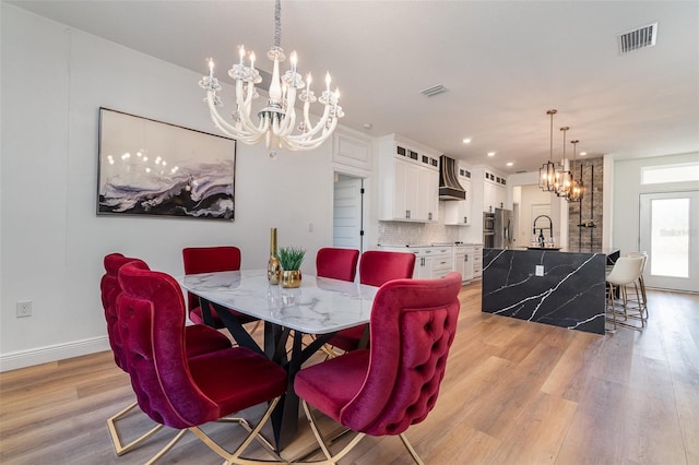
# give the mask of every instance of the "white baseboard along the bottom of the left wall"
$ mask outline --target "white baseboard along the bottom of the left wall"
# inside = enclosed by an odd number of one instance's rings
[[[100,336],[54,346],[37,347],[29,350],[2,354],[0,355],[0,372],[109,350],[110,348],[107,336]]]

